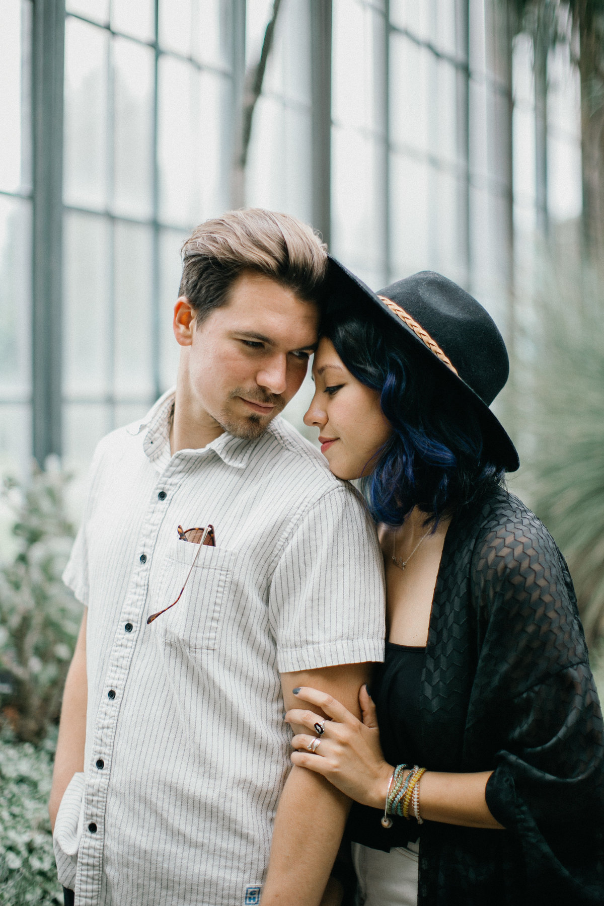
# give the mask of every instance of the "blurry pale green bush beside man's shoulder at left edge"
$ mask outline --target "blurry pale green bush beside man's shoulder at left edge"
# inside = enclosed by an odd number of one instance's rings
[[[4,482],[16,553],[0,564],[0,701],[17,738],[40,742],[59,717],[81,605],[61,581],[74,529],[65,514],[69,477],[37,470]]]

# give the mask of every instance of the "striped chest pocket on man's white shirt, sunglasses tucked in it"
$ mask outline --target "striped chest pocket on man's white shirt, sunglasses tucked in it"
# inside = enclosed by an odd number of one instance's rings
[[[233,551],[220,547],[202,545],[200,549],[188,541],[177,541],[170,547],[160,582],[164,607],[177,598],[189,570],[191,574],[180,600],[155,622],[162,624],[167,643],[177,642],[192,650],[216,649],[234,559]]]

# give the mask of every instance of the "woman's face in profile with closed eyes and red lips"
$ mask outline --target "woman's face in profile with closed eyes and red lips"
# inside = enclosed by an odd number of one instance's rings
[[[326,337],[315,352],[312,378],[316,389],[304,424],[319,429],[321,453],[331,471],[339,478],[369,475],[374,454],[392,434],[378,390],[350,374]]]

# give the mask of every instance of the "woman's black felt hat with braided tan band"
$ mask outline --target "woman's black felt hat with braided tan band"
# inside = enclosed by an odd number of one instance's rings
[[[520,460],[512,440],[489,406],[503,388],[510,362],[491,315],[461,286],[434,271],[420,271],[374,293],[330,255],[327,311],[350,314],[355,305],[383,313],[393,337],[435,368],[445,386],[467,398],[480,420],[484,446],[495,462],[515,472]]]

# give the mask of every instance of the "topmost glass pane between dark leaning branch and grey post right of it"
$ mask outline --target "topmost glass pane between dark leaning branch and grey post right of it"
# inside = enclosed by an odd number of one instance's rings
[[[309,0],[290,0],[281,6],[263,91],[301,104],[312,103]]]

